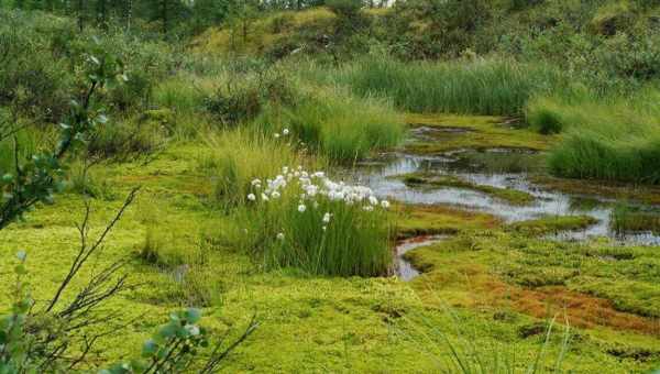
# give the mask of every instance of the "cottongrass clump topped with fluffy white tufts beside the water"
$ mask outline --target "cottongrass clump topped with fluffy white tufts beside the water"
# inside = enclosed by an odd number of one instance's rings
[[[367,187],[285,166],[273,179],[254,179],[246,199],[244,237],[266,268],[340,276],[392,268],[389,202]]]

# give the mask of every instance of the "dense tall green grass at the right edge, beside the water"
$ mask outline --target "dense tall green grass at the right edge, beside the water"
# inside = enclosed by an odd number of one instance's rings
[[[528,121],[565,132],[550,153],[552,174],[571,178],[660,184],[660,92],[631,98],[585,96],[530,102]]]

